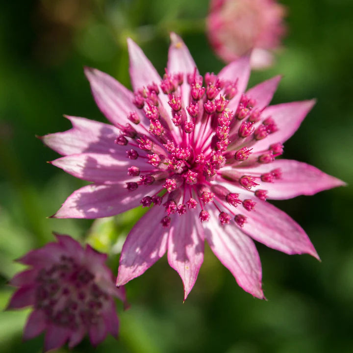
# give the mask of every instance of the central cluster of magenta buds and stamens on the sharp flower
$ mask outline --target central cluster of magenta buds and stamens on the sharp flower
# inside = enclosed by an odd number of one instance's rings
[[[115,142],[126,148],[126,157],[131,160],[128,190],[160,184],[160,190],[144,196],[141,204],[149,207],[163,203],[167,213],[161,220],[163,227],[170,225],[170,215],[183,215],[197,204],[201,222],[208,221],[209,214],[203,207],[209,202],[219,211],[222,225],[234,218],[242,227],[246,216],[235,207],[241,204],[245,211],[252,211],[255,202],[240,200],[239,194],[230,193],[217,181],[227,179],[266,200],[266,190],[256,189],[256,181],[274,182],[281,177],[278,169],[256,176],[237,173],[237,167],[271,163],[283,152],[278,143],[262,153],[252,153],[252,145],[277,131],[277,126],[271,117],[262,117],[256,101],[246,95],[241,96],[235,111],[228,109],[237,92],[237,81],[223,80],[213,73],[203,78],[195,69],[187,77],[166,70],[159,87],[151,82],[134,93],[133,103],[143,110],[146,121],[141,124],[139,115],[130,112],[131,124],[119,126],[121,135]],[[169,112],[162,100],[169,104]],[[139,124],[145,134],[133,127]]]

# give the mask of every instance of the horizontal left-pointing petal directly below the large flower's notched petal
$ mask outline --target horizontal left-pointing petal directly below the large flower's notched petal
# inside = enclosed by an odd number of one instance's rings
[[[127,169],[132,165],[143,170],[151,168],[143,158],[138,158],[131,163],[131,160],[126,158],[125,149],[114,154],[72,154],[55,159],[50,163],[80,179],[102,184],[116,184],[130,180],[131,177],[127,175]]]

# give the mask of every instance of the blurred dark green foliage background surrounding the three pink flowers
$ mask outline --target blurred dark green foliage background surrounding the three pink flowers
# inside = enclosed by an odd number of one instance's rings
[[[314,164],[353,183],[353,2],[283,0],[288,35],[277,64],[252,74],[251,85],[282,74],[274,102],[316,97],[318,103],[285,157]],[[0,5],[0,308],[11,294],[12,262],[53,239],[51,231],[118,252],[141,215],[132,210],[96,221],[55,220],[82,182],[45,161],[57,157],[35,138],[70,127],[63,113],[104,121],[82,67],[97,67],[130,87],[126,37],[136,40],[160,73],[168,32],[183,36],[201,71],[223,63],[203,32],[208,1],[13,0]],[[276,202],[307,231],[322,263],[258,245],[268,301],[253,299],[206,249],[198,281],[182,303],[182,284],[165,258],[131,281],[131,309],[121,333],[97,349],[76,352],[353,352],[352,187]],[[28,310],[0,313],[0,352],[41,352],[43,337],[22,342]],[[66,352],[62,349],[60,352]]]

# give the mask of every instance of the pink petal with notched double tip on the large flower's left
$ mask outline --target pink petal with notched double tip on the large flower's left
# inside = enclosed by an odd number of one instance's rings
[[[52,150],[63,154],[82,152],[117,153],[121,146],[114,143],[120,130],[114,126],[85,118],[66,116],[73,128],[40,137]]]

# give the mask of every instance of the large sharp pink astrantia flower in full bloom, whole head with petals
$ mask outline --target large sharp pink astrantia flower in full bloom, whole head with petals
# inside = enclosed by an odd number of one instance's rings
[[[252,238],[318,257],[303,229],[266,199],[342,185],[307,164],[275,160],[314,101],[267,106],[279,77],[244,93],[249,57],[202,77],[185,44],[171,38],[163,79],[128,41],[134,94],[86,69],[95,100],[114,126],[69,117],[71,130],[43,137],[64,155],[52,164],[94,182],[76,190],[54,217],[98,218],[150,207],[126,238],[118,285],[140,276],[168,249],[186,298],[206,239],[238,284],[263,298]]]

